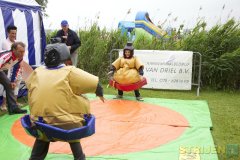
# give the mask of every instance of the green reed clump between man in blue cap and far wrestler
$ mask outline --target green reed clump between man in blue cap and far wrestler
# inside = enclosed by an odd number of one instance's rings
[[[80,31],[79,34],[82,46],[79,49],[78,66],[106,81],[109,53],[114,48],[123,48],[127,38],[120,36],[119,31],[100,30],[97,23],[94,23],[89,31]]]

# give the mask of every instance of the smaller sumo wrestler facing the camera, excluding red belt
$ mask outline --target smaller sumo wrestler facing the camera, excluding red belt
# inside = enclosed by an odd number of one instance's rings
[[[113,76],[113,79],[119,84],[133,84],[141,80],[143,68],[142,62],[134,56],[132,43],[128,42],[123,49],[123,57],[119,57],[112,63],[111,71],[108,75]],[[137,100],[143,100],[138,89],[134,90],[134,93]],[[118,89],[116,98],[122,97],[123,91]]]

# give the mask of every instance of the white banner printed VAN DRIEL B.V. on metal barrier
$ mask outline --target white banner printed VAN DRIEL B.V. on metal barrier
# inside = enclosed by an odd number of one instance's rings
[[[148,84],[143,88],[191,90],[192,52],[134,50],[134,55],[144,64]]]

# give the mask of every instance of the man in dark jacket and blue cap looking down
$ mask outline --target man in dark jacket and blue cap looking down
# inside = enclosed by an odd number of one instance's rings
[[[66,20],[61,22],[62,29],[59,30],[55,37],[60,37],[61,42],[65,43],[70,50],[72,65],[77,67],[78,53],[77,49],[81,46],[80,38],[77,33],[69,29],[69,24]]]

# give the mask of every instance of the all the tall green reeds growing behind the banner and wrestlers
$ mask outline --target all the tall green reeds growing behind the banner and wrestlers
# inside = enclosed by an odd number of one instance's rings
[[[240,27],[234,19],[206,30],[207,23],[199,21],[189,32],[184,25],[173,29],[167,37],[151,39],[136,35],[135,49],[188,50],[200,52],[202,61],[202,87],[240,89]],[[127,36],[119,30],[100,29],[97,22],[88,30],[79,30],[82,46],[78,49],[78,67],[107,81],[109,55],[112,49],[122,49]],[[47,38],[53,36],[48,33]]]

